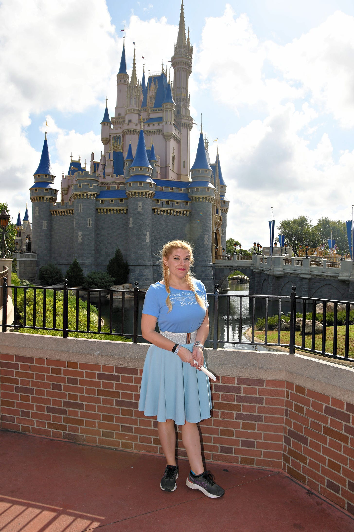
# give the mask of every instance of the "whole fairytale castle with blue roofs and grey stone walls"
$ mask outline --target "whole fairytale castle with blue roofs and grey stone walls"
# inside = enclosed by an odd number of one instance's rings
[[[30,188],[37,272],[54,263],[64,274],[75,258],[84,273],[105,271],[118,246],[129,264],[129,282],[147,288],[161,277],[163,244],[183,239],[194,247],[195,277],[213,288],[215,255],[226,248],[229,202],[219,153],[211,163],[202,128],[190,161],[192,53],[183,2],[171,58],[173,84],[163,65],[161,72],[149,71],[147,81],[143,70],[140,84],[135,49],[129,78],[123,44],[114,116],[106,100],[101,122],[101,156],[95,160],[91,154],[90,170],[71,160],[60,192],[46,134]]]

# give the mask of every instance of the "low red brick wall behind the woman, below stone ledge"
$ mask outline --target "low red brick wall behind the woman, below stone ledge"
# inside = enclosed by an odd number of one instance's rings
[[[0,354],[1,428],[162,453],[137,410],[141,369]],[[283,468],[354,514],[354,405],[284,380],[221,377],[200,423],[208,461]],[[185,450],[178,438],[179,455]]]

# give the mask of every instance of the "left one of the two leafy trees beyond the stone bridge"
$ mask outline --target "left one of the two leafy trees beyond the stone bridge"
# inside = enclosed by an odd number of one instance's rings
[[[292,246],[292,251],[298,255],[299,245],[308,244],[309,247],[317,247],[322,244],[321,237],[312,221],[306,216],[299,216],[292,220],[282,220],[277,229],[285,236],[285,242]]]

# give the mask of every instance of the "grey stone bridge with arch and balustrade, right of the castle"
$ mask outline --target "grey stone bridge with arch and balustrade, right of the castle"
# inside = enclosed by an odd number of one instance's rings
[[[227,288],[227,277],[239,270],[249,278],[250,294],[297,295],[354,301],[354,270],[351,260],[340,262],[314,257],[262,256],[215,260],[214,280]]]

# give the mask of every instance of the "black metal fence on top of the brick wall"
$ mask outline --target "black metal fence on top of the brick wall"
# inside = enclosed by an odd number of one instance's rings
[[[6,278],[4,278],[2,330],[5,332],[11,327],[15,330],[57,331],[62,332],[64,338],[72,333],[98,334],[102,337],[122,336],[131,338],[134,343],[137,343],[142,339],[140,319],[143,297],[146,293],[145,290],[139,290],[138,286],[139,282],[135,282],[133,291],[69,288],[67,281],[64,282],[63,288],[14,286],[12,290],[15,318],[13,323],[6,324],[7,284]],[[354,327],[350,329],[354,323],[354,310],[350,308],[350,305],[353,305],[352,308],[354,309],[353,302],[297,296],[295,286],[292,287],[289,296],[220,294],[218,288],[219,285],[215,285],[214,293],[208,294],[210,335],[205,342],[207,347],[216,349],[226,345],[237,347],[237,345],[261,344],[267,347],[286,347],[290,354],[299,350],[338,359],[354,358]],[[121,294],[121,303],[119,303],[118,309],[119,326],[114,322],[114,302],[118,294]],[[38,297],[39,295],[40,297]],[[102,327],[101,319],[103,296],[108,299],[105,307],[104,327]],[[133,301],[127,305],[128,297],[132,298]],[[47,299],[49,298],[51,305],[48,310]],[[69,300],[71,301],[70,305]],[[80,314],[82,300],[87,302],[84,322],[82,314]],[[90,305],[92,302],[96,307],[96,321],[94,323],[91,320]],[[318,303],[323,305],[322,331],[320,332],[316,331],[316,327],[318,327],[316,324],[316,305]],[[327,311],[328,304],[333,305],[333,315],[331,314],[331,316]],[[340,309],[344,306],[345,312],[339,311],[338,305],[342,305]],[[128,323],[125,319],[127,312],[129,312]],[[70,326],[69,313],[71,313]],[[312,315],[309,316],[309,313]],[[339,313],[341,313],[340,317]],[[79,319],[79,315],[81,315],[81,319]],[[257,339],[255,335],[258,318],[264,319],[264,338],[262,337],[262,340]],[[333,328],[327,325],[328,318],[333,321]],[[289,336],[287,336],[286,331],[283,334],[282,326],[286,321],[288,322]],[[343,323],[340,334],[339,322]],[[309,323],[310,331],[308,330]],[[296,334],[300,326],[306,334]],[[245,336],[246,330],[248,337]],[[263,330],[261,334],[263,335]],[[285,338],[287,341],[284,341]]]

